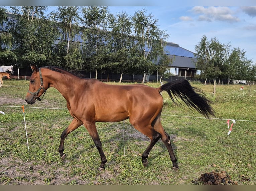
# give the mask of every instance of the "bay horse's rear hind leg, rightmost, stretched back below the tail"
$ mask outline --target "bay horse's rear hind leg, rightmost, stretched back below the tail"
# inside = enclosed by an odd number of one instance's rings
[[[177,159],[172,150],[170,136],[163,129],[163,126],[160,121],[160,116],[158,116],[155,119],[154,124],[152,124],[152,126],[157,132],[159,132],[161,134],[161,139],[162,139],[163,143],[165,144],[165,146],[169,152],[171,161],[172,161],[172,168],[174,170],[177,170],[179,168],[179,166],[177,165]]]

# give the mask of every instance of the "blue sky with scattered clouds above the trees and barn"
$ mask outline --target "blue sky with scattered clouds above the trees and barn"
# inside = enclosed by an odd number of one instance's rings
[[[158,19],[158,26],[170,34],[168,42],[195,52],[203,35],[231,48],[246,51],[247,59],[256,62],[256,6],[108,6],[111,13],[133,15],[143,8]],[[49,11],[53,7],[49,7]]]

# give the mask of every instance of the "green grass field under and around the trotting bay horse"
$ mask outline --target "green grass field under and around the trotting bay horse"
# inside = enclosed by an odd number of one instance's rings
[[[98,150],[83,126],[68,135],[64,144],[67,157],[64,162],[60,159],[60,134],[72,117],[56,89],[48,89],[41,102],[28,105],[24,99],[29,82],[4,80],[0,88],[0,110],[5,112],[0,113],[0,184],[203,184],[201,174],[213,170],[226,171],[237,184],[255,184],[256,85],[245,85],[244,91],[240,91],[241,85],[217,85],[215,97],[213,85],[191,85],[213,101],[217,119],[182,109],[163,93],[161,120],[173,141],[178,171],[171,169],[161,140],[151,150],[148,166],[142,165],[141,154],[149,139],[129,120],[96,124],[108,160],[106,168],[99,171]],[[230,135],[227,119],[236,120]]]

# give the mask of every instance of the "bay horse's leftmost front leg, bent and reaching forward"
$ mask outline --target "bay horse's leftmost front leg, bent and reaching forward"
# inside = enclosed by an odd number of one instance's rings
[[[63,153],[64,151],[64,140],[68,136],[68,134],[71,131],[74,131],[76,128],[81,126],[83,123],[81,121],[78,121],[77,119],[73,119],[73,121],[70,123],[70,125],[61,133],[60,135],[60,143],[59,143],[59,154],[62,160],[65,159],[66,154]]]

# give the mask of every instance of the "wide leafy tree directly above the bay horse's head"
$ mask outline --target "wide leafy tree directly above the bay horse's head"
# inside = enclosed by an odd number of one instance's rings
[[[58,30],[45,19],[47,7],[10,7],[14,19],[10,31],[14,37],[15,51],[19,53],[19,67],[31,63],[38,66],[52,59],[52,46]]]

